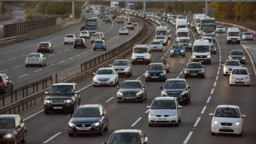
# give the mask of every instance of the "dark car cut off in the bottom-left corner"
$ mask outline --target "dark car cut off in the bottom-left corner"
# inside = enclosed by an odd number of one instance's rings
[[[0,115],[0,143],[26,143],[27,129],[20,115]]]

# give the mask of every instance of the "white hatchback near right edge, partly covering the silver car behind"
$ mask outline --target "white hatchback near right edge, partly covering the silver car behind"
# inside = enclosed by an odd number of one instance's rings
[[[229,85],[247,85],[250,86],[250,75],[247,68],[233,68],[231,73],[228,73]]]

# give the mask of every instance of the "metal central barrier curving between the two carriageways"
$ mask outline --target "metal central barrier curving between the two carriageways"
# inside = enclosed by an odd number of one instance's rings
[[[143,25],[143,22],[141,22],[141,23]],[[34,104],[36,103],[36,98],[38,98],[38,97],[40,97],[41,100],[43,100],[43,95],[42,95],[44,92],[43,90],[50,87],[54,83],[63,82],[65,79],[68,79],[75,75],[83,75],[84,80],[91,78],[93,75],[91,72],[88,72],[88,71],[91,71],[91,69],[93,69],[93,71],[95,71],[96,69],[98,69],[96,67],[102,66],[102,63],[105,63],[106,61],[109,61],[109,60],[113,59],[114,57],[117,57],[120,53],[123,53],[129,47],[133,46],[135,42],[137,42],[141,38],[145,38],[147,35],[145,35],[144,33],[141,33],[142,31],[147,33],[147,31],[148,31],[147,27],[143,26],[143,29],[140,30],[137,35],[135,35],[133,38],[131,38],[130,41],[127,41],[126,43],[116,47],[115,49],[113,49],[109,52],[101,54],[98,57],[95,57],[94,59],[85,61],[85,62],[81,63],[81,65],[79,65],[75,68],[69,69],[67,71],[62,71],[62,73],[60,73],[60,74],[55,74],[54,76],[46,77],[46,78],[42,79],[41,81],[34,82],[34,83],[31,83],[26,86],[22,86],[19,89],[15,89],[15,90],[11,91],[10,93],[1,95],[2,96],[2,108],[0,109],[0,114],[5,113],[6,110],[11,111],[13,108],[15,109],[16,107],[18,107],[18,113],[19,113],[20,107],[22,107],[22,109],[25,109],[25,106],[28,108],[28,103],[30,102],[30,106],[31,106],[33,103],[32,100],[34,100]],[[144,36],[142,34],[144,34]],[[106,66],[108,67],[109,63]],[[75,79],[77,79],[77,78],[75,78]],[[78,79],[79,79],[79,82],[83,81],[83,79],[81,79],[81,77],[79,77]],[[77,81],[77,80],[74,80],[74,81]],[[30,93],[31,94],[34,93],[34,94],[30,95]],[[10,105],[5,106],[6,99],[8,99],[8,101],[11,101]],[[9,112],[9,113],[11,113],[11,112]],[[14,110],[14,113],[15,113],[15,110]]]

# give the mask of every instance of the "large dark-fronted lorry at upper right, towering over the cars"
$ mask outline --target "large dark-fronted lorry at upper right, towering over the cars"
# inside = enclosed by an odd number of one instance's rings
[[[216,21],[214,18],[201,19],[200,26],[201,26],[200,28],[201,36],[204,36],[206,34],[215,35]]]

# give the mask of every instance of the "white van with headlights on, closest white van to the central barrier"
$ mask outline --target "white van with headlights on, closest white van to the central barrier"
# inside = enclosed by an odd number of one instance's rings
[[[133,63],[151,63],[151,52],[147,44],[137,44],[132,51]]]

